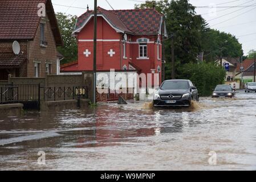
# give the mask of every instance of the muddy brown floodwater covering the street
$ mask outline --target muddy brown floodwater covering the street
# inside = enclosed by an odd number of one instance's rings
[[[0,114],[0,170],[195,169],[256,170],[256,93],[189,109],[139,102]]]

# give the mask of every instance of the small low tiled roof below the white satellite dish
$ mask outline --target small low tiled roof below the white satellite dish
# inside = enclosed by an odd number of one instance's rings
[[[19,68],[23,61],[23,56],[16,56],[13,53],[4,53],[0,55],[0,68]]]

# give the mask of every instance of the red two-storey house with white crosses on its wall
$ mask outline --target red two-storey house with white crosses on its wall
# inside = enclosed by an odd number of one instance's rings
[[[61,71],[92,71],[94,11],[81,15],[73,35],[78,61]],[[158,73],[161,83],[162,39],[167,36],[164,16],[155,9],[104,10],[97,8],[97,70],[136,70]]]

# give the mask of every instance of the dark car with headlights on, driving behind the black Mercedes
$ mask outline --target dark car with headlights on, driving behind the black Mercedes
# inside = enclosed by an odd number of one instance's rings
[[[213,91],[212,97],[234,97],[235,91],[230,85],[217,85]]]

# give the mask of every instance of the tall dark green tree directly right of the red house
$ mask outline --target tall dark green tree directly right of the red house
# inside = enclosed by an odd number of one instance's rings
[[[195,7],[188,0],[178,1],[146,1],[135,8],[145,9],[155,7],[165,16],[166,29],[169,36],[174,35],[174,55],[176,73],[180,74],[180,67],[186,63],[197,63],[197,56],[202,50],[202,33],[206,31],[206,24],[201,15],[196,15]],[[171,54],[170,39],[165,41],[166,78],[170,78]]]

